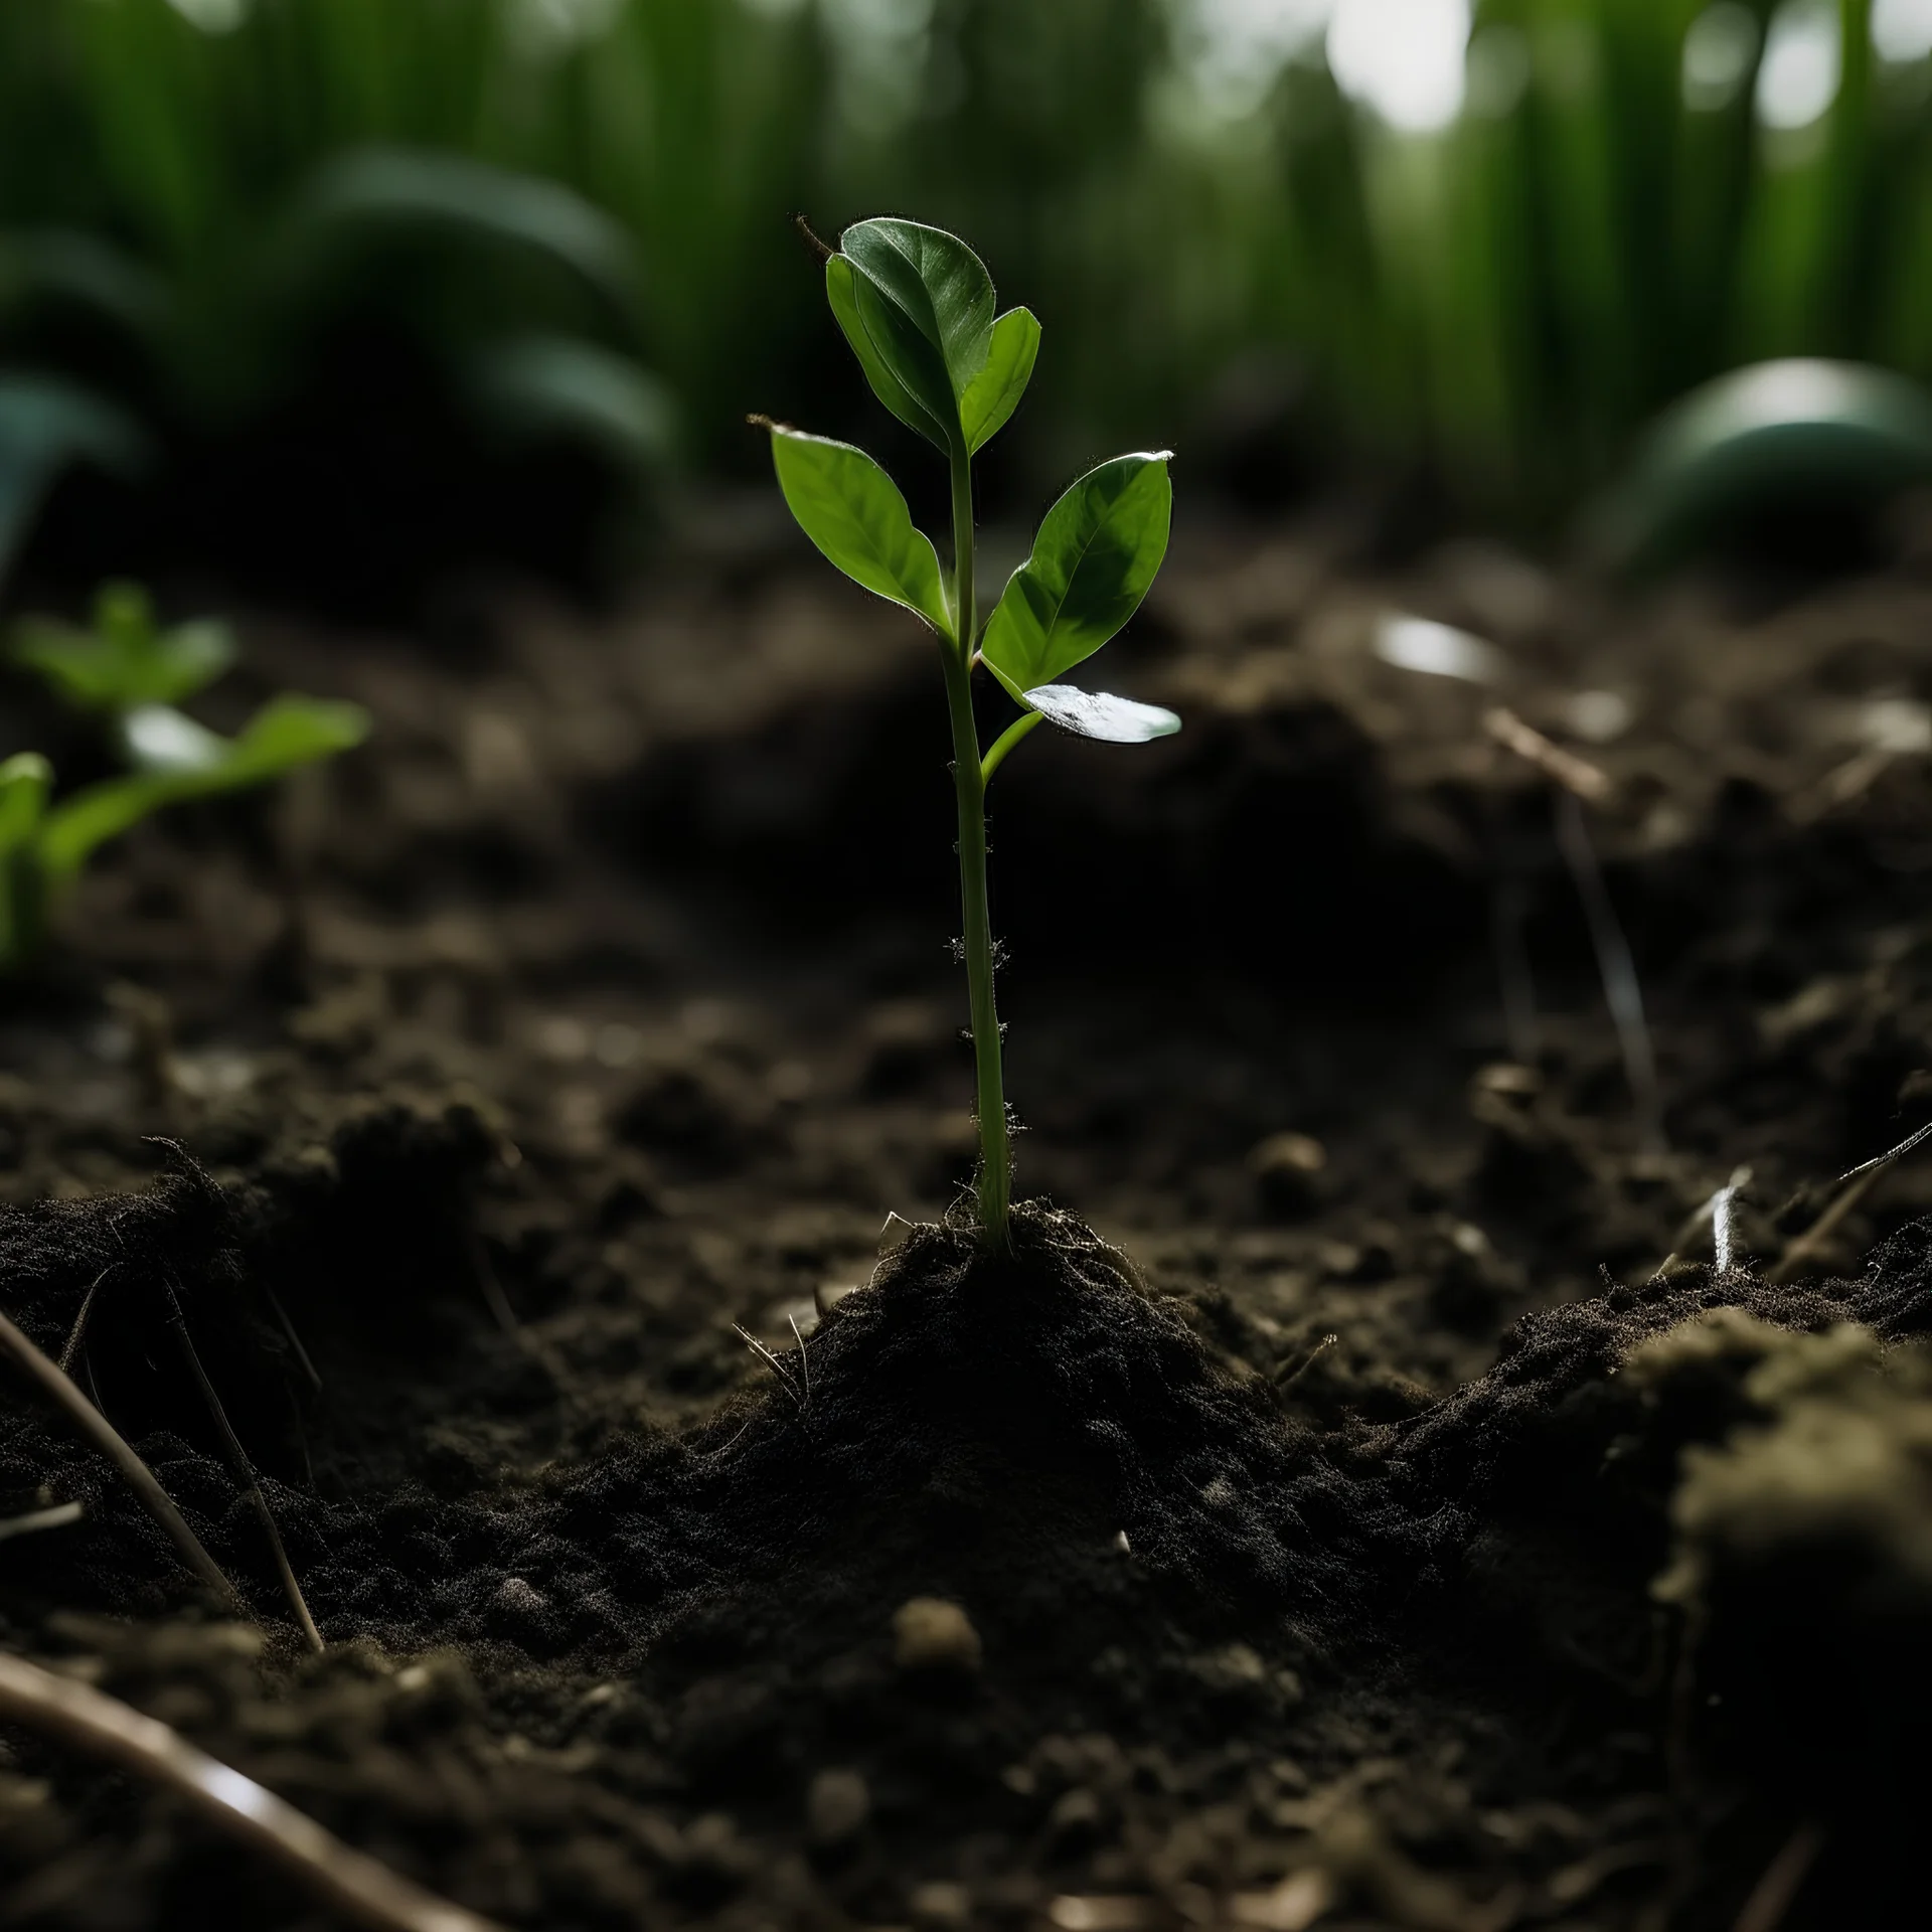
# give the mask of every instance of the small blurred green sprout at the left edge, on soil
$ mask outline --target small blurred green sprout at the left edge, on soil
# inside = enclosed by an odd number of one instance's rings
[[[162,806],[263,784],[369,734],[359,705],[298,696],[270,699],[236,738],[197,724],[176,707],[228,670],[234,638],[224,624],[158,630],[131,583],[100,591],[91,630],[23,622],[10,657],[99,717],[129,771],[56,804],[54,771],[39,752],[0,763],[0,972],[41,949],[62,895],[104,840]]]

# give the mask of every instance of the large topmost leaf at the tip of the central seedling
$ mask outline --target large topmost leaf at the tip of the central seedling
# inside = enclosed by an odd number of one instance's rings
[[[854,222],[838,238],[854,269],[860,323],[906,394],[964,442],[960,400],[993,344],[993,282],[943,228],[896,218]]]

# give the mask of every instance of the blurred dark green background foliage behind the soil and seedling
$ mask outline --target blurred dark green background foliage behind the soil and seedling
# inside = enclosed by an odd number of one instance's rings
[[[1177,442],[1548,533],[1719,369],[1932,377],[1932,0],[4,0],[0,485],[104,402],[95,568],[582,562],[750,408],[891,440],[794,211],[1041,317],[995,508]]]

